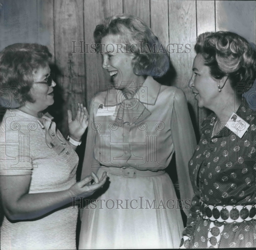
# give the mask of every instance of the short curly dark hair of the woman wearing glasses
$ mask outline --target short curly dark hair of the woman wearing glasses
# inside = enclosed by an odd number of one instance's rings
[[[35,102],[29,94],[33,71],[49,64],[51,57],[48,48],[37,43],[15,43],[0,53],[0,80],[20,87],[21,106],[26,101]]]

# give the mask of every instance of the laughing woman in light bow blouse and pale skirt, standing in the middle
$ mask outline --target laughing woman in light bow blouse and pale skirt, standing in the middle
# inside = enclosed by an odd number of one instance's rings
[[[175,151],[188,211],[187,162],[196,141],[185,95],[153,79],[166,73],[169,59],[139,18],[107,18],[94,38],[113,87],[91,101],[82,177],[98,169],[110,183],[81,210],[79,249],[177,248],[183,222],[165,168]]]

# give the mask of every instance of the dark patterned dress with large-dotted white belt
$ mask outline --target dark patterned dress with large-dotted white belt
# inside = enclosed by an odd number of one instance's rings
[[[226,127],[212,137],[214,113],[202,123],[189,161],[194,197],[180,248],[256,247],[256,112],[243,100],[236,114],[250,124],[242,138]]]

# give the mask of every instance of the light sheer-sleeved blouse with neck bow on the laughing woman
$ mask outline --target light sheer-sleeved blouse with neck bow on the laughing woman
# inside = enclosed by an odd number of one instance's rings
[[[184,93],[151,76],[130,88],[129,100],[111,87],[93,97],[82,178],[100,166],[163,170],[175,151],[180,195],[191,199],[188,161],[196,139]]]

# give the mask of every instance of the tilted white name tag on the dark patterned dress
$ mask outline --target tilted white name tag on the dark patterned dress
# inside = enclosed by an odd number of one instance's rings
[[[225,126],[242,138],[250,124],[233,112]]]

